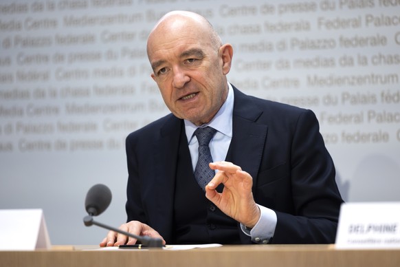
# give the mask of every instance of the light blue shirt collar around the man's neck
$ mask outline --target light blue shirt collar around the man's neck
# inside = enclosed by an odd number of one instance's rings
[[[230,83],[227,83],[228,92],[227,98],[223,103],[222,107],[215,114],[214,118],[210,120],[210,122],[201,125],[200,127],[210,126],[216,131],[223,133],[225,136],[229,136],[232,138],[232,114],[233,114],[233,106],[234,106],[234,94],[233,88]],[[193,124],[188,120],[184,120],[185,122],[185,131],[186,137],[188,138],[188,143],[192,139],[193,133],[198,128],[197,125]]]

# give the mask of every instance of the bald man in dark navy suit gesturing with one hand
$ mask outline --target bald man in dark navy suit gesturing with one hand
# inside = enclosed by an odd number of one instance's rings
[[[120,229],[164,244],[335,242],[343,200],[313,112],[228,83],[232,45],[199,14],[162,17],[147,54],[171,114],[126,138],[128,220]],[[213,129],[214,171],[205,186],[195,178],[204,127]],[[100,246],[135,242],[111,231]]]

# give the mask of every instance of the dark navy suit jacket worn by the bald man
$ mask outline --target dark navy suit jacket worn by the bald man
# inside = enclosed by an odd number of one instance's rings
[[[128,221],[149,224],[169,244],[182,127],[169,114],[126,138]],[[234,87],[232,127],[227,161],[252,175],[256,203],[276,212],[272,243],[334,243],[343,200],[315,114]]]

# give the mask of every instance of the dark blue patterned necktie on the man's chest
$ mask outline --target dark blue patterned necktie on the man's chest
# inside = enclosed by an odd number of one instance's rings
[[[199,141],[199,160],[197,160],[195,168],[195,178],[201,189],[205,190],[205,186],[214,177],[214,170],[210,169],[208,164],[212,162],[210,147],[208,144],[216,133],[216,129],[212,127],[197,128],[195,136]]]

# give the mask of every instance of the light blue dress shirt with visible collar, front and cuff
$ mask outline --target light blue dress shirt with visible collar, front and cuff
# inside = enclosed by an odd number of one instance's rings
[[[228,87],[229,89],[227,98],[225,100],[225,103],[223,103],[221,109],[219,109],[219,111],[210,122],[200,126],[210,126],[216,129],[216,133],[210,141],[210,152],[212,160],[214,160],[214,162],[225,160],[227,151],[230,146],[230,141],[232,140],[232,114],[234,107],[234,92],[230,83],[228,83]],[[188,138],[190,157],[192,158],[192,167],[193,171],[195,171],[197,159],[199,158],[199,142],[197,142],[197,138],[195,138],[193,133],[198,127],[188,120],[184,120],[184,122],[186,137]],[[241,224],[241,228],[246,235],[252,237],[253,242],[259,244],[267,244],[269,242],[269,239],[271,239],[271,237],[273,237],[275,233],[277,222],[276,213],[264,206],[258,205],[258,207],[260,208],[261,216],[256,225],[251,230],[245,228],[243,224]]]

